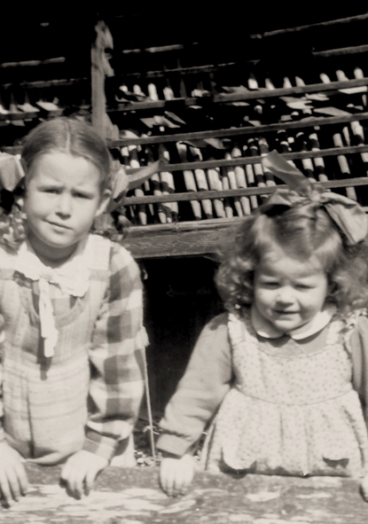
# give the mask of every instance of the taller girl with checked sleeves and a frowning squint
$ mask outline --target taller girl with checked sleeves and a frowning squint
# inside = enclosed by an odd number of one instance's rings
[[[27,489],[22,462],[63,463],[74,497],[129,441],[143,395],[137,263],[90,234],[110,197],[110,156],[89,125],[57,119],[24,146],[26,239],[0,247],[0,490]],[[18,234],[18,239],[20,235]]]

